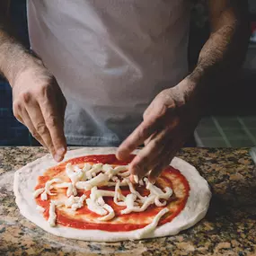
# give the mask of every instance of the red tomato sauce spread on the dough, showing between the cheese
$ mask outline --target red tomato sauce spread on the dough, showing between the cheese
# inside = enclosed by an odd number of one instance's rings
[[[66,163],[72,163],[72,164],[79,164],[79,163],[109,163],[114,165],[126,165],[132,161],[132,159],[135,157],[135,155],[130,155],[129,159],[127,161],[119,161],[115,154],[95,154],[95,155],[87,155],[78,157],[75,159],[68,160]],[[50,168],[48,171],[44,173],[43,176],[39,177],[38,184],[35,188],[35,190],[44,187],[45,183],[49,181],[50,179],[54,178],[55,176],[61,174],[62,172],[65,172],[65,166],[66,163],[58,164],[57,166]],[[172,179],[170,178],[172,176]],[[175,195],[175,186],[173,184],[173,179],[175,181],[179,180],[179,186],[182,185],[182,197],[178,198]],[[164,182],[164,186],[163,183]],[[174,169],[172,166],[168,166],[161,174],[160,178],[156,181],[156,185],[163,189],[165,185],[168,185],[173,190],[173,195],[171,199],[167,201],[167,206],[170,208],[170,212],[164,215],[158,225],[163,225],[165,223],[171,222],[172,219],[175,216],[178,216],[182,209],[185,207],[187,200],[189,198],[190,194],[190,185],[189,182],[186,180],[186,178],[181,174],[179,170]],[[137,185],[136,185],[137,186]],[[114,190],[114,187],[102,187],[99,188],[99,190]],[[137,186],[136,190],[142,195],[142,196],[148,196],[149,191],[146,190],[145,186]],[[122,194],[126,196],[129,193],[128,186],[121,187]],[[81,196],[83,194],[86,195],[87,198],[90,197],[90,191],[84,191],[84,190],[78,190],[78,196]],[[46,201],[42,201],[40,199],[40,196],[36,199],[36,202],[40,207],[45,208],[44,217],[46,219],[49,218],[49,202],[50,199],[54,199],[52,196],[48,196],[49,199]],[[132,212],[128,215],[121,215],[121,210],[125,207],[117,206],[113,202],[113,198],[111,197],[104,197],[104,201],[110,205],[115,211],[115,216],[119,217],[121,219],[121,224],[117,223],[111,223],[111,221],[106,222],[86,222],[84,219],[80,218],[74,218],[72,216],[68,216],[65,213],[61,211],[61,209],[57,209],[57,224],[58,225],[65,225],[70,226],[73,228],[78,229],[95,229],[95,230],[104,230],[109,232],[122,232],[122,231],[132,231],[136,229],[140,229],[148,225],[149,223],[145,224],[145,219],[147,217],[155,216],[159,211],[161,211],[164,207],[156,207],[155,205],[149,206],[146,211],[135,213]],[[173,205],[173,207],[172,207]],[[98,218],[99,215],[93,213],[90,211],[86,206],[79,208],[75,211],[75,216],[90,216],[91,218]],[[141,224],[134,224],[130,220],[142,220]],[[137,221],[139,222],[139,221]]]

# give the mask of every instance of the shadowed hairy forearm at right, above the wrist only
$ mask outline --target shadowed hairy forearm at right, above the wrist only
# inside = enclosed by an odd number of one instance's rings
[[[231,14],[226,9],[221,13],[200,51],[198,65],[188,76],[199,87],[196,89],[202,97],[231,84],[243,63],[249,39],[249,25],[246,10],[240,12]]]

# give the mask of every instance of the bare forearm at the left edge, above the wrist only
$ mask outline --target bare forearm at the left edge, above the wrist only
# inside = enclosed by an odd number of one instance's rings
[[[13,86],[15,78],[22,70],[37,61],[35,57],[15,39],[6,19],[0,20],[0,73]]]

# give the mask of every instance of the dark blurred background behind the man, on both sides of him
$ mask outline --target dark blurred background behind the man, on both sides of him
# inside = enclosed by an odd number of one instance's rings
[[[190,21],[190,68],[209,35],[207,0],[194,0]],[[246,59],[232,89],[221,93],[195,131],[198,146],[256,146],[256,1],[249,0],[251,40]],[[13,25],[29,48],[26,0],[13,0],[10,6]],[[229,87],[230,88],[230,87]],[[27,128],[14,117],[10,85],[0,77],[0,146],[35,146]]]

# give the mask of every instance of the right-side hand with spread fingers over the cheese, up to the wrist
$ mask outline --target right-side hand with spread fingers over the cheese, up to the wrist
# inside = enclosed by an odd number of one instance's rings
[[[117,157],[125,159],[137,146],[145,147],[130,163],[131,174],[143,178],[147,172],[154,182],[181,146],[190,137],[199,122],[199,110],[189,79],[163,90],[144,113],[143,122],[119,146]]]

